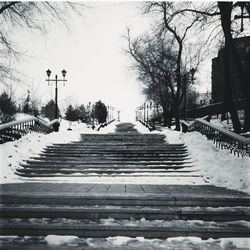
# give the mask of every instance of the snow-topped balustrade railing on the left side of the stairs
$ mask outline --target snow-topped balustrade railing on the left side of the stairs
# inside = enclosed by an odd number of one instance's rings
[[[58,128],[57,119],[47,123],[41,118],[30,117],[19,121],[12,121],[0,125],[0,144],[20,139],[23,135],[32,131],[48,134]]]

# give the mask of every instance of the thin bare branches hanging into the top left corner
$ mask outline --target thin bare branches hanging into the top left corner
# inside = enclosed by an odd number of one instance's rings
[[[18,59],[21,53],[11,38],[15,29],[38,30],[45,35],[49,24],[55,20],[68,28],[69,15],[81,15],[83,7],[84,4],[73,2],[0,2],[1,83],[5,84],[5,79],[8,78],[16,79],[11,60]]]

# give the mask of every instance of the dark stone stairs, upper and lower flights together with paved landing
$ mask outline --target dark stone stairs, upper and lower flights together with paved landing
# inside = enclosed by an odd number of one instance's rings
[[[197,175],[185,145],[168,144],[162,134],[140,134],[129,124],[117,130],[48,146],[17,174],[26,178]],[[155,184],[1,185],[1,235],[250,236],[248,195],[212,185]]]

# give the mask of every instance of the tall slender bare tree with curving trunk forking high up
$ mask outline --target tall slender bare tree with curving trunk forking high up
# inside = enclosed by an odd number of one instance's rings
[[[182,5],[185,3],[181,3]],[[180,101],[183,95],[183,86],[186,84],[185,75],[186,70],[183,70],[185,46],[187,46],[186,38],[189,31],[200,21],[199,16],[193,16],[192,19],[187,19],[185,15],[182,15],[180,10],[182,7],[177,6],[173,2],[148,2],[144,5],[144,13],[154,13],[158,18],[158,31],[160,33],[166,33],[171,37],[173,47],[177,55],[176,58],[176,93],[173,103],[173,113],[175,114],[176,129],[180,130],[180,119],[179,119],[179,107]],[[182,18],[180,19],[181,15]]]

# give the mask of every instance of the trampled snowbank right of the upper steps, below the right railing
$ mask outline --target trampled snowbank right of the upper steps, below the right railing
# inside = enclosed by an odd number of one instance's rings
[[[184,142],[195,167],[209,184],[244,191],[250,194],[250,158],[237,157],[219,149],[198,132],[182,133],[163,130],[169,143]]]

